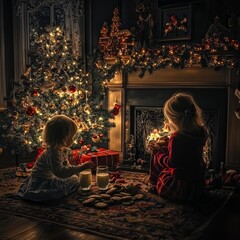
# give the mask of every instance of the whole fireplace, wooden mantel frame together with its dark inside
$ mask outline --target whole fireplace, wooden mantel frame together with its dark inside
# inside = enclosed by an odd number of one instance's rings
[[[211,136],[209,160],[212,167],[218,169],[220,163],[224,162],[228,168],[239,168],[237,142],[240,142],[240,122],[234,114],[238,104],[234,96],[236,86],[237,79],[232,69],[166,68],[152,74],[146,73],[143,78],[137,72],[118,72],[108,84],[108,107],[112,109],[117,101],[122,108],[114,119],[116,127],[109,132],[108,147],[119,151],[121,161],[126,163],[129,157],[127,146],[133,138],[134,157],[147,160],[144,141],[151,129],[145,126],[150,121],[150,126],[154,127],[157,124],[155,118],[160,119],[161,125],[164,102],[173,93],[186,91],[193,94],[204,110]]]

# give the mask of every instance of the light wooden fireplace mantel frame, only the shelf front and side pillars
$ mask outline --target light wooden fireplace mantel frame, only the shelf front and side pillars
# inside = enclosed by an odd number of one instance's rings
[[[184,69],[166,68],[152,74],[145,73],[139,77],[139,72],[118,72],[108,84],[108,108],[112,109],[114,102],[118,101],[122,108],[115,116],[116,127],[109,132],[109,149],[119,151],[120,159],[126,155],[125,144],[128,141],[126,128],[126,93],[128,90],[138,89],[225,89],[227,91],[227,126],[226,126],[226,156],[225,163],[228,168],[240,168],[240,120],[235,116],[238,99],[234,91],[238,86],[238,79],[233,69],[191,67]],[[144,101],[144,100],[143,100]]]

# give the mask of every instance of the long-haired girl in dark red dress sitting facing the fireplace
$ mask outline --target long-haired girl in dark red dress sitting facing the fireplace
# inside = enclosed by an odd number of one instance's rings
[[[203,148],[207,140],[202,110],[193,96],[180,92],[166,101],[167,143],[159,139],[149,147],[150,183],[158,195],[175,202],[194,202],[205,195]],[[166,138],[165,138],[166,140]]]

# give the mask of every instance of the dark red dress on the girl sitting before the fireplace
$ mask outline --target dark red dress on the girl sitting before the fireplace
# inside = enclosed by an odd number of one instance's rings
[[[205,194],[204,129],[196,132],[175,132],[167,149],[153,155],[150,181],[160,196],[173,201],[193,202]]]

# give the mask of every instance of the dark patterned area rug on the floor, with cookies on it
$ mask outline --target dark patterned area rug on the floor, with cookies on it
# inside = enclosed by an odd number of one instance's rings
[[[23,178],[0,171],[0,212],[50,222],[106,239],[198,239],[229,200],[231,189],[213,189],[195,206],[170,203],[147,191],[143,173],[121,172],[110,193],[80,190],[66,199],[38,204],[19,199]],[[124,179],[124,181],[122,181]],[[89,200],[91,199],[91,200]]]

